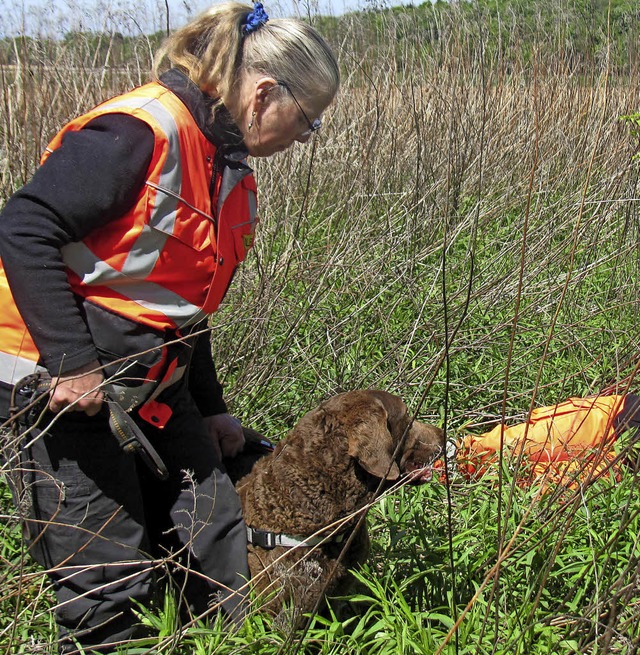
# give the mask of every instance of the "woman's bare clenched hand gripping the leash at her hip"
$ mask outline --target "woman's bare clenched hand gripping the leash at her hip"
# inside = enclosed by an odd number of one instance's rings
[[[104,375],[97,361],[51,378],[49,409],[57,413],[70,406],[71,412],[84,412],[95,416],[102,407],[104,394],[100,386]]]

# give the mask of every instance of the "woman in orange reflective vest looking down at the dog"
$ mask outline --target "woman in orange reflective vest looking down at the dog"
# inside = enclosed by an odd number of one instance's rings
[[[308,141],[339,84],[315,30],[237,3],[169,37],[154,76],[63,128],[0,215],[0,416],[12,393],[25,404],[24,376],[50,379],[35,428],[15,419],[32,429],[14,479],[61,652],[135,636],[132,600],[161,587],[167,554],[192,616],[242,618],[245,527],[221,456],[243,434],[207,317],[253,243],[246,156]],[[122,409],[155,460],[120,447]]]

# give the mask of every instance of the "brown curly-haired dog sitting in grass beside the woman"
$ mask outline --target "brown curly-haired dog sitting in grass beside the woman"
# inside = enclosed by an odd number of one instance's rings
[[[273,593],[265,608],[282,627],[299,625],[322,595],[346,591],[348,569],[364,562],[369,539],[360,515],[380,491],[381,480],[430,478],[444,433],[414,421],[404,402],[385,391],[349,391],[329,398],[302,417],[276,447],[237,484],[251,528],[303,540],[340,526],[338,540],[320,545],[261,548],[249,545],[254,588]],[[349,517],[349,518],[347,518]],[[345,519],[345,521],[341,521]]]

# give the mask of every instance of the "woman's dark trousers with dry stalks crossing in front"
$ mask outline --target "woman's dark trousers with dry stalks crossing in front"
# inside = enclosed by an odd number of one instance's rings
[[[160,481],[111,434],[106,411],[46,413],[23,439],[15,494],[32,556],[56,596],[60,650],[137,636],[133,601],[149,604],[167,572],[191,615],[216,604],[242,620],[249,578],[240,502],[186,389],[167,426],[144,432],[166,464]],[[18,475],[19,474],[19,475]],[[27,502],[25,503],[25,500]],[[238,591],[240,590],[240,591]]]

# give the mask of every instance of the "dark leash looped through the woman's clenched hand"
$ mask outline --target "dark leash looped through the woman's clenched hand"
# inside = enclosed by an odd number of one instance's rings
[[[9,407],[12,429],[16,437],[19,436],[18,417],[27,410],[31,416],[43,411],[46,405],[41,407],[41,401],[48,398],[50,391],[51,376],[48,373],[33,373],[16,382],[11,390]],[[131,416],[113,399],[108,389],[103,390],[103,393],[109,408],[109,428],[120,448],[125,453],[138,455],[156,477],[166,480],[169,471],[156,449]],[[17,403],[17,396],[22,396],[26,401],[22,407]],[[27,422],[31,422],[29,417]]]

